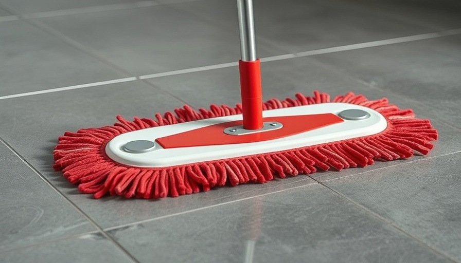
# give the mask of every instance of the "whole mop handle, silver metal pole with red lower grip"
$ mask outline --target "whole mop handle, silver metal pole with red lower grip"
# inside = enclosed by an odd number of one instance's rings
[[[256,57],[253,1],[237,0],[240,31],[240,95],[244,129],[262,128],[261,67]]]

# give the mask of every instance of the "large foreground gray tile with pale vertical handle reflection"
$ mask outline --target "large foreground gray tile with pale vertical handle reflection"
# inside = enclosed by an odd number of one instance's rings
[[[109,233],[140,262],[449,262],[321,185]]]

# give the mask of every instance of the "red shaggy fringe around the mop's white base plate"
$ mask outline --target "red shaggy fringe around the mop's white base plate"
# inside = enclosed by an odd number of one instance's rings
[[[297,93],[294,99],[272,99],[263,104],[263,110],[295,107],[327,102],[351,103],[366,106],[382,114],[387,128],[376,135],[337,141],[260,155],[225,160],[193,163],[162,168],[141,168],[122,165],[111,160],[104,152],[105,145],[115,136],[138,129],[169,125],[200,119],[241,114],[242,107],[211,105],[209,110],[198,111],[184,106],[174,114],[155,114],[156,120],[134,118],[127,121],[117,116],[113,126],[80,129],[59,137],[54,150],[56,171],[62,171],[67,180],[78,184],[82,193],[95,198],[118,195],[126,198],[162,198],[209,191],[226,183],[235,186],[246,182],[263,183],[277,174],[311,174],[317,169],[342,170],[364,167],[375,160],[406,159],[414,152],[427,155],[437,139],[437,131],[429,120],[416,119],[413,110],[399,109],[386,98],[367,100],[363,95],[349,92],[330,100],[326,93],[314,91],[312,97]]]

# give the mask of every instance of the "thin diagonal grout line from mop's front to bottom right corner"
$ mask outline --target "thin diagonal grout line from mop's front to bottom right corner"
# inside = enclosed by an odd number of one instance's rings
[[[312,177],[311,177],[311,178],[312,178]],[[423,242],[421,239],[417,238],[416,236],[414,236],[414,235],[412,235],[412,234],[406,232],[405,230],[403,230],[402,228],[400,228],[397,224],[395,224],[393,221],[391,221],[391,220],[389,220],[389,219],[387,219],[387,218],[385,218],[385,217],[382,217],[382,216],[379,215],[378,213],[376,213],[376,212],[374,212],[374,211],[372,211],[372,210],[366,208],[366,206],[364,206],[364,205],[362,205],[362,204],[360,204],[360,203],[358,203],[358,202],[356,202],[356,201],[350,199],[350,198],[347,197],[346,195],[344,195],[344,194],[342,194],[342,193],[340,193],[340,192],[338,192],[338,191],[332,189],[331,187],[329,187],[328,185],[324,184],[323,182],[318,181],[318,180],[316,180],[316,179],[314,179],[314,178],[312,178],[312,179],[315,180],[318,184],[320,184],[320,185],[322,185],[323,187],[325,187],[326,189],[328,189],[329,191],[331,191],[331,192],[333,192],[333,193],[335,193],[335,194],[341,196],[342,198],[346,199],[347,201],[351,202],[352,204],[358,206],[358,208],[364,210],[367,214],[369,214],[369,215],[371,215],[371,216],[377,218],[378,220],[383,221],[384,223],[386,223],[386,224],[388,224],[389,226],[391,226],[392,228],[398,230],[398,231],[401,232],[402,234],[404,234],[404,235],[410,237],[411,239],[415,240],[416,242],[420,243],[420,244],[423,245],[424,247],[429,248],[429,250],[435,252],[436,254],[439,254],[440,256],[443,256],[443,257],[445,257],[445,258],[451,260],[452,262],[456,262],[456,263],[459,263],[459,262],[460,262],[460,261],[456,260],[455,258],[452,258],[450,255],[446,255],[444,252],[439,251],[437,248],[432,247],[430,244]]]

